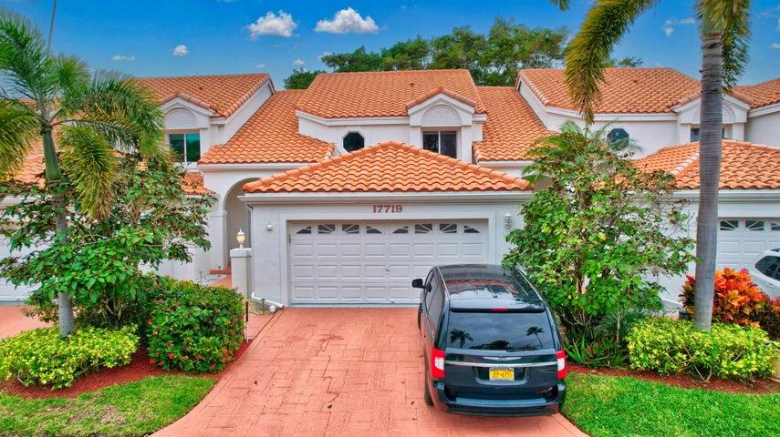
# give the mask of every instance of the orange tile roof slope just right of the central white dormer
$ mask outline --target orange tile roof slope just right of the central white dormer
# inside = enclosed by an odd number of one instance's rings
[[[479,86],[477,89],[487,107],[483,140],[473,143],[477,162],[529,159],[527,152],[534,141],[552,134],[512,86]]]

